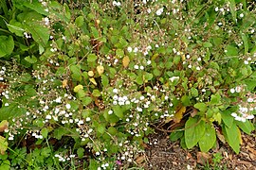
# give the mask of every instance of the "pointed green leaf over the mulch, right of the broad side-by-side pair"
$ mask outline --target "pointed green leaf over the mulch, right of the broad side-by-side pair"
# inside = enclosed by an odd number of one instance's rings
[[[235,151],[236,154],[240,151],[240,130],[235,125],[232,124],[231,127],[223,126],[223,134],[228,141],[231,148]]]

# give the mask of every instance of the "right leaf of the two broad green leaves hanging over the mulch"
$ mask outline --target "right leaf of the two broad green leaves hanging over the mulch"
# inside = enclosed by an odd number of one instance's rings
[[[216,133],[212,124],[206,124],[204,136],[199,141],[201,151],[208,152],[216,142]]]

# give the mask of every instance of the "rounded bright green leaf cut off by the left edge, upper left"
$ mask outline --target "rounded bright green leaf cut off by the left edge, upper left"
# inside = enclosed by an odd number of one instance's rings
[[[0,58],[10,55],[14,49],[12,36],[0,36]]]

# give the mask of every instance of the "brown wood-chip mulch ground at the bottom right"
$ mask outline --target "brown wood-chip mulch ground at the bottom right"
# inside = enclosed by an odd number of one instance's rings
[[[237,169],[256,170],[256,131],[251,136],[242,134],[241,151],[236,155],[228,144],[218,141],[209,153],[202,153],[198,148],[182,149],[179,142],[171,142],[169,135],[157,131],[149,137],[143,163],[148,170],[192,170],[192,169]],[[215,161],[218,153],[220,161]]]

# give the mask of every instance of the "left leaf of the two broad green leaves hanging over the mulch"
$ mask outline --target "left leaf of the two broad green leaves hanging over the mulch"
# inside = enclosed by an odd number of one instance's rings
[[[205,122],[198,118],[190,117],[185,124],[185,143],[188,148],[192,148],[205,134]]]

